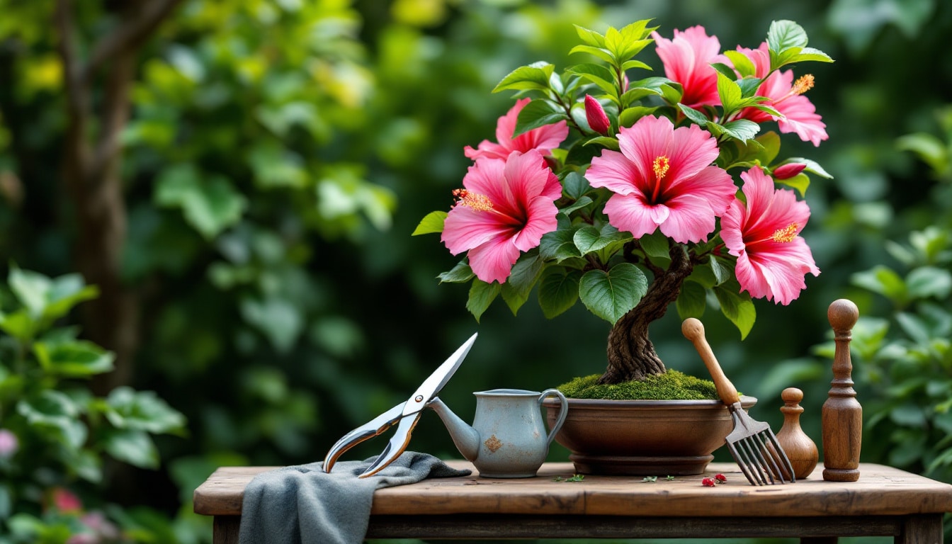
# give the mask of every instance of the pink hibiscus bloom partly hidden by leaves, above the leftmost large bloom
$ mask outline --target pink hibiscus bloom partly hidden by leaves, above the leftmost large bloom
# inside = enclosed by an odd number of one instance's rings
[[[538,129],[523,132],[515,138],[512,137],[512,134],[516,131],[519,112],[523,111],[523,108],[529,102],[531,102],[530,98],[517,100],[516,105],[496,122],[496,140],[499,141],[498,144],[483,140],[477,150],[474,150],[471,146],[466,146],[463,150],[466,156],[471,159],[486,157],[506,160],[512,151],[525,153],[529,150],[537,150],[543,155],[547,155],[553,148],[559,147],[559,144],[568,136],[568,124],[565,121],[545,125]]]

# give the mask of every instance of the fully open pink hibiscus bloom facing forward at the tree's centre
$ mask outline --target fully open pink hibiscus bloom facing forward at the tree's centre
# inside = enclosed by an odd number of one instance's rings
[[[700,242],[714,231],[737,188],[711,166],[717,142],[697,125],[675,129],[666,117],[642,117],[618,134],[619,151],[602,151],[585,177],[615,192],[605,203],[608,221],[636,238],[661,229],[676,242]]]

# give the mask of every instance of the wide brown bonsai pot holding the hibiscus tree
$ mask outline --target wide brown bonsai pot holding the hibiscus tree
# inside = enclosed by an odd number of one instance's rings
[[[755,397],[741,397],[744,411],[756,403]],[[543,406],[551,426],[559,402],[548,398]],[[569,398],[555,441],[571,452],[576,473],[687,475],[704,473],[733,429],[720,400]]]

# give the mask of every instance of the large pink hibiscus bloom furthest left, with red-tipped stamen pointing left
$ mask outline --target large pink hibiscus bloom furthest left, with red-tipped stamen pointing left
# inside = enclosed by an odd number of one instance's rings
[[[555,230],[562,185],[533,150],[512,151],[505,161],[477,158],[463,187],[454,191],[458,200],[446,215],[443,243],[454,255],[468,252],[476,277],[503,283],[520,252]]]

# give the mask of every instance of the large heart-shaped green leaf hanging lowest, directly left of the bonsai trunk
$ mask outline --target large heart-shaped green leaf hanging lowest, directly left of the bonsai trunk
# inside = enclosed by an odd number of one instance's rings
[[[638,304],[647,289],[645,272],[631,263],[620,263],[608,272],[585,272],[579,297],[589,312],[614,324]]]

